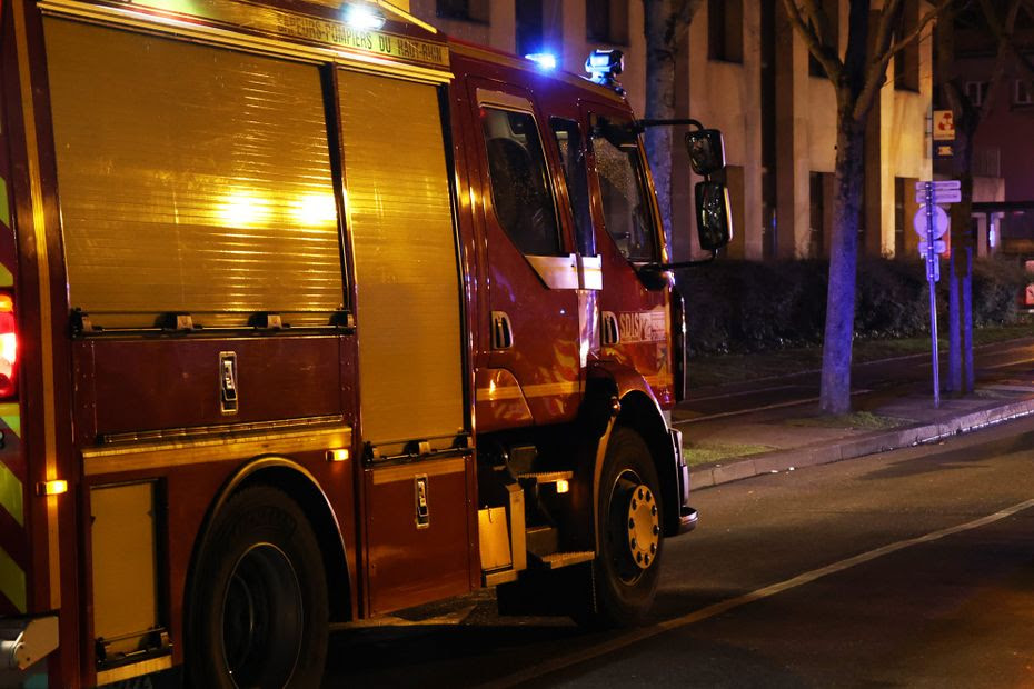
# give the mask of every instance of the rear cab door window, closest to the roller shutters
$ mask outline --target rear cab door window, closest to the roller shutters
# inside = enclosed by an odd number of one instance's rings
[[[560,233],[543,143],[528,112],[481,108],[491,202],[499,224],[529,256],[558,256]]]

